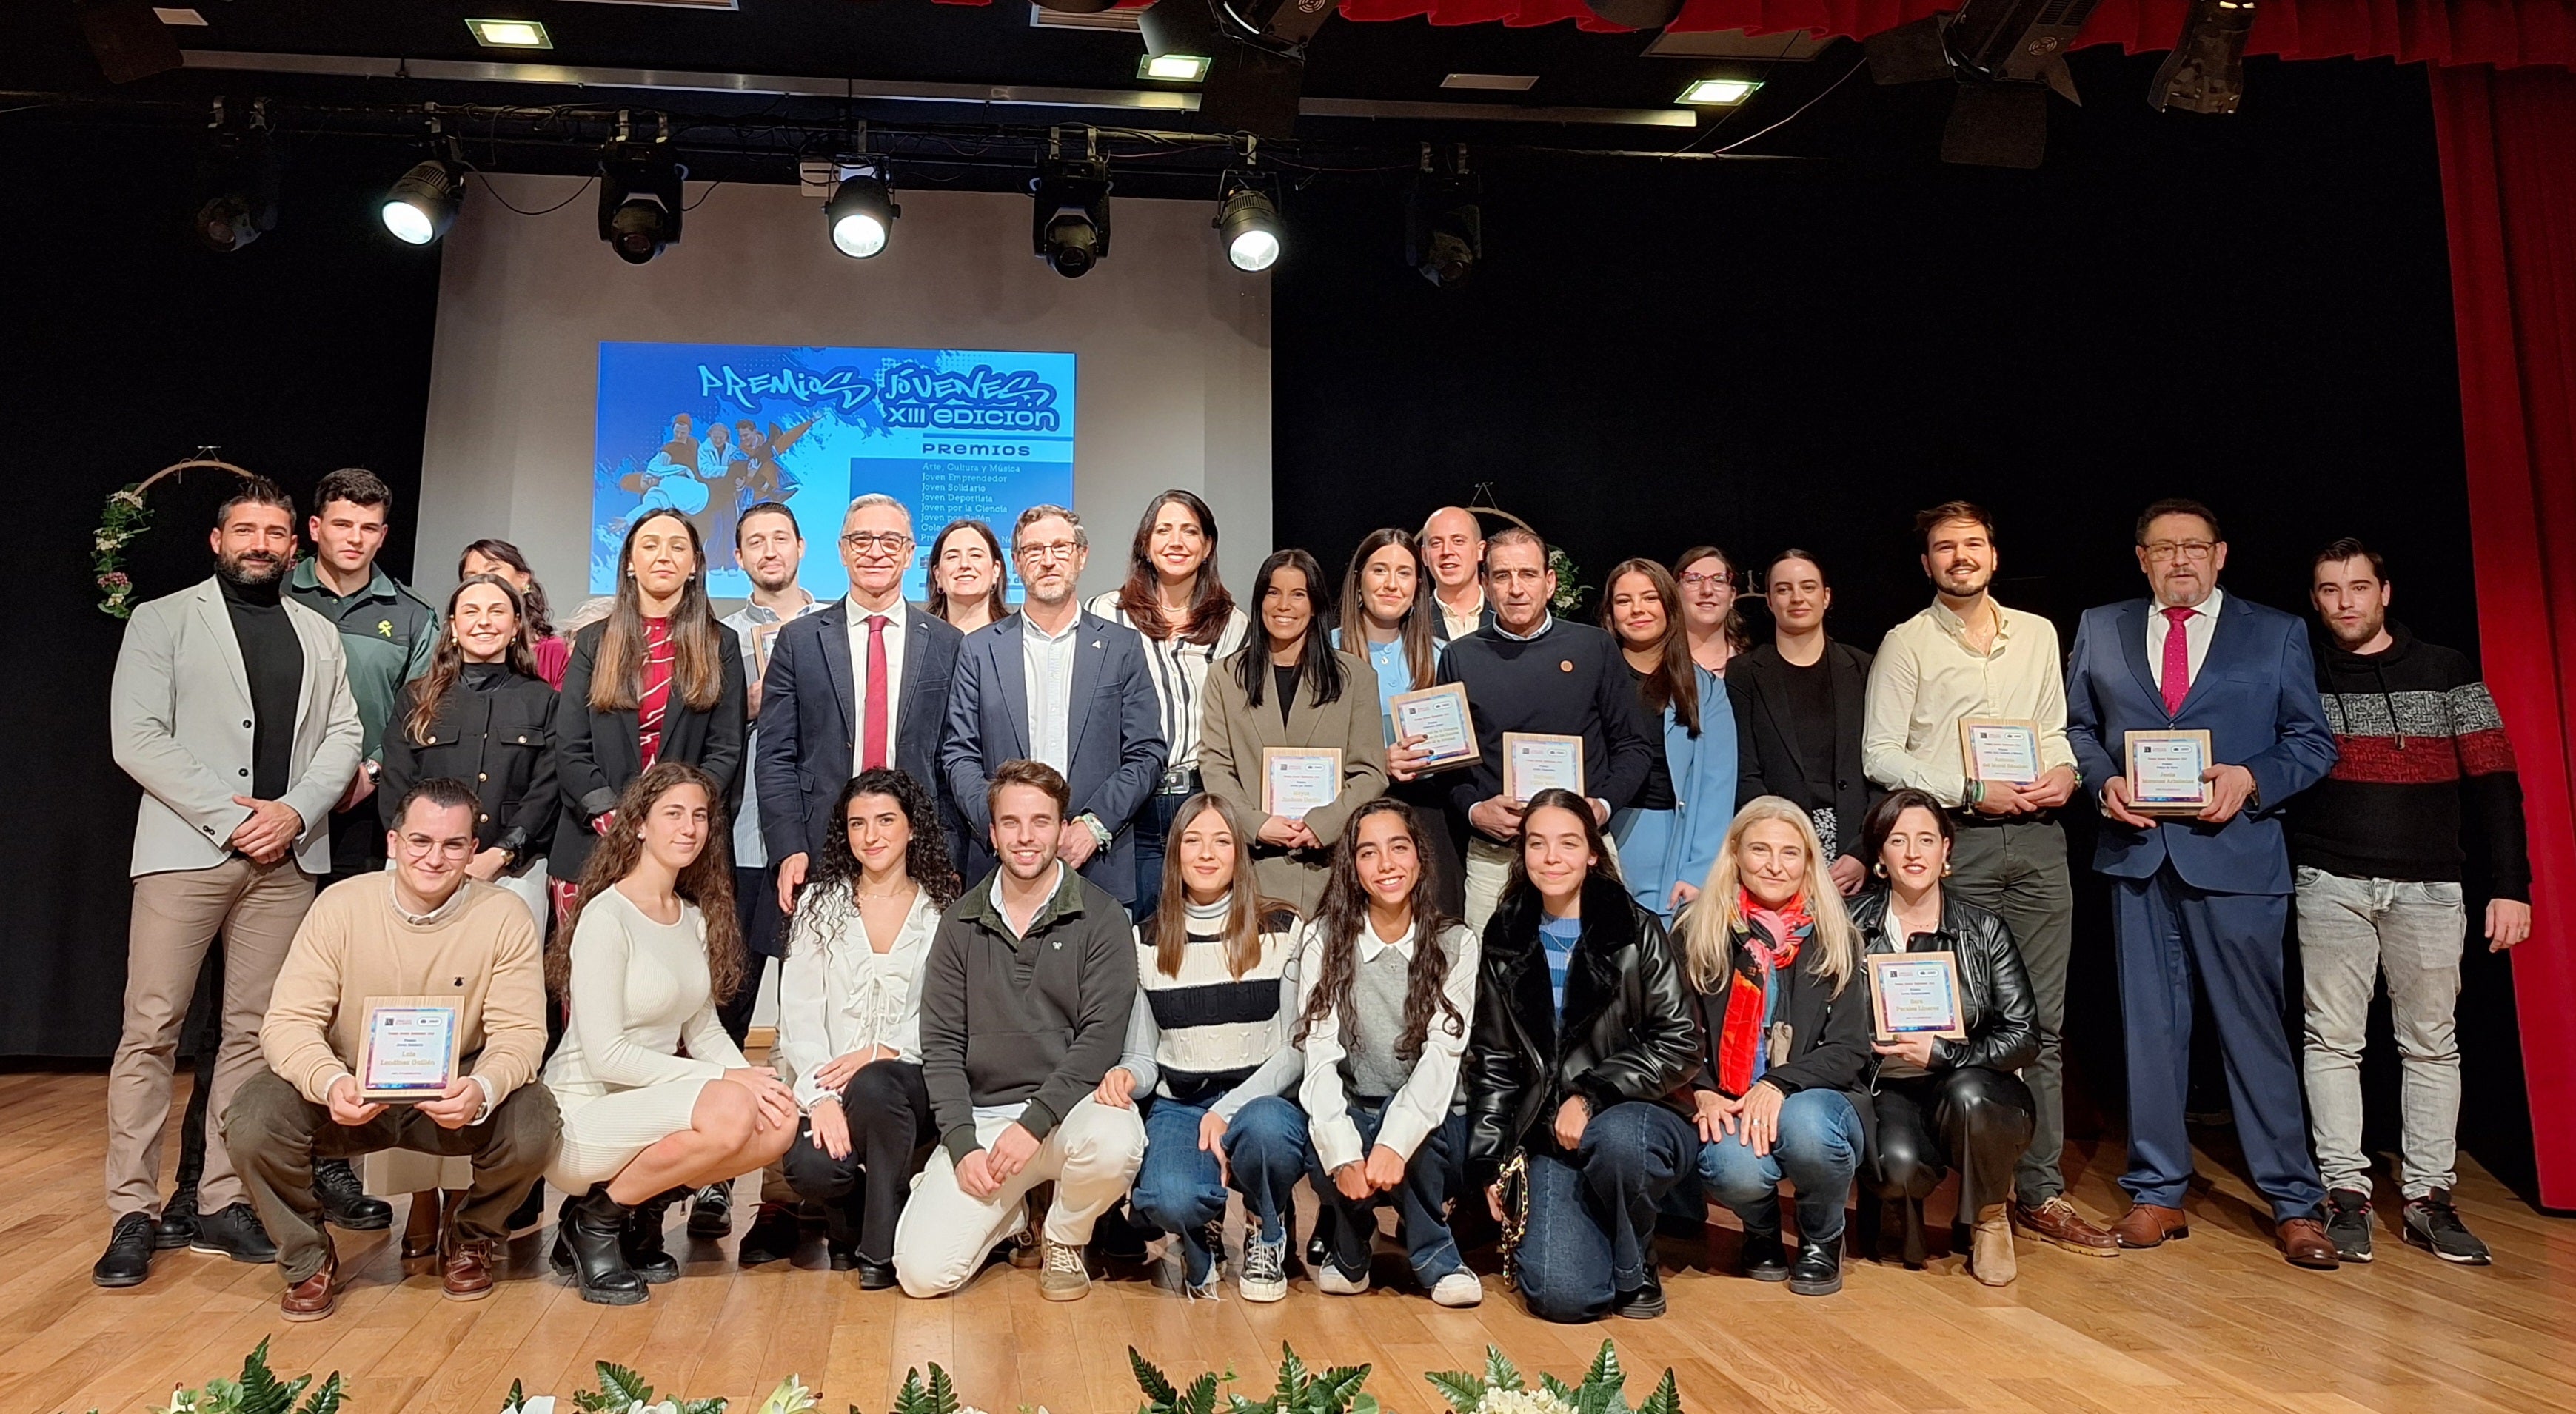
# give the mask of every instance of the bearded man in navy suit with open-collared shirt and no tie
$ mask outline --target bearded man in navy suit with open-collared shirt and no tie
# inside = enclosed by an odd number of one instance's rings
[[[1090,559],[1082,520],[1033,505],[1010,533],[1028,598],[958,649],[940,768],[966,816],[966,878],[994,868],[984,786],[1007,760],[1043,760],[1072,783],[1056,855],[1136,909],[1159,878],[1136,878],[1128,822],[1162,783],[1167,744],[1144,639],[1074,603]]]

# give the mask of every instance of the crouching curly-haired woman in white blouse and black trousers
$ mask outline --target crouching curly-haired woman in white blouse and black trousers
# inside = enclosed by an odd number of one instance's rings
[[[938,806],[909,773],[858,773],[832,819],[840,829],[796,899],[778,974],[778,1059],[806,1115],[786,1172],[822,1205],[832,1270],[858,1267],[860,1290],[884,1290],[912,1156],[938,1138],[922,1084],[922,963],[958,871]]]

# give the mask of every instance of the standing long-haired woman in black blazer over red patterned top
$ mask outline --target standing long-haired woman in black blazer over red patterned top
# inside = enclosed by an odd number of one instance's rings
[[[580,883],[618,793],[644,768],[677,760],[742,801],[742,649],[706,603],[698,528],[654,510],[626,528],[618,603],[572,639],[556,719],[564,809],[546,868],[556,891]],[[719,827],[719,840],[732,840]]]

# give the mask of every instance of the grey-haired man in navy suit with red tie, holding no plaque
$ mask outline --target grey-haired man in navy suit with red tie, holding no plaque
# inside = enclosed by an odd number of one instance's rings
[[[778,628],[760,680],[752,760],[760,840],[778,860],[778,907],[788,912],[837,827],[832,804],[860,770],[909,773],[940,801],[951,850],[958,837],[956,804],[940,791],[940,734],[966,636],[904,603],[912,564],[904,502],[853,500],[840,523],[840,561],[850,569],[850,598]]]

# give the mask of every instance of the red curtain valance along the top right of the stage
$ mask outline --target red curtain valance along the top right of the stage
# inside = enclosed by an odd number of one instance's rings
[[[1955,10],[1958,0],[1687,0],[1677,31],[1808,28],[1860,39],[1883,28]],[[2128,52],[2172,49],[2187,0],[2105,0],[2084,26],[2084,44]],[[1352,21],[1430,18],[1435,26],[1502,21],[1546,26],[1574,21],[1618,31],[1584,0],[1342,0]],[[2434,64],[2571,64],[2576,0],[2264,0],[2254,13],[2251,54],[2285,59],[2429,59]]]

